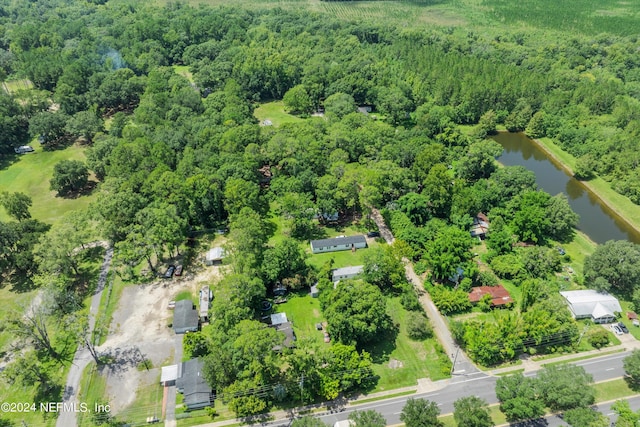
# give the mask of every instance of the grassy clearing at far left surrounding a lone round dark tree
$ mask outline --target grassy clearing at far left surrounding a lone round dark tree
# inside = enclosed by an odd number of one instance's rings
[[[81,196],[76,199],[56,197],[49,190],[49,180],[53,176],[53,167],[61,160],[85,161],[85,147],[73,145],[64,150],[43,151],[40,144],[32,144],[35,152],[16,156],[10,165],[0,163],[0,188],[8,191],[20,191],[33,199],[31,215],[41,221],[53,224],[64,214],[74,210],[86,209],[95,196]],[[0,210],[0,221],[7,221],[8,215]]]

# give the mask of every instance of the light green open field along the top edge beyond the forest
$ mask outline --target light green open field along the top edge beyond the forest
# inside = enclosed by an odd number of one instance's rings
[[[165,5],[169,0],[156,0]],[[224,0],[187,0],[192,5],[227,6]],[[235,5],[252,10],[302,10],[344,20],[367,20],[400,28],[429,28],[433,25],[465,27],[491,33],[506,29],[612,33],[637,32],[640,3],[620,0],[237,0]]]

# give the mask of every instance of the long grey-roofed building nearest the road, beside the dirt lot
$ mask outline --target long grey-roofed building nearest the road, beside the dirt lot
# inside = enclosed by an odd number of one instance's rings
[[[176,390],[182,393],[182,404],[188,411],[206,408],[214,403],[213,391],[203,375],[204,362],[191,359],[178,365]]]

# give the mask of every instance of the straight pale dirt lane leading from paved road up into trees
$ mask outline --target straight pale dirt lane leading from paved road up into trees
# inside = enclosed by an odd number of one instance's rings
[[[380,211],[375,208],[371,208],[371,217],[378,226],[380,235],[384,237],[388,244],[392,244],[395,241],[395,238],[393,237],[391,230],[389,230],[389,227],[387,227],[387,224],[384,222],[384,218],[382,218]],[[413,264],[407,258],[403,258],[402,260],[404,261],[407,279],[416,289],[420,303],[422,304],[422,307],[424,308],[425,313],[427,313],[429,319],[431,319],[433,331],[438,338],[438,341],[440,341],[442,347],[447,352],[447,355],[451,358],[451,362],[453,363],[452,374],[469,375],[480,372],[480,370],[469,360],[464,351],[455,344],[453,336],[451,336],[451,332],[447,327],[447,321],[436,308],[429,293],[424,290],[422,279],[418,277],[416,272],[413,270]]]

